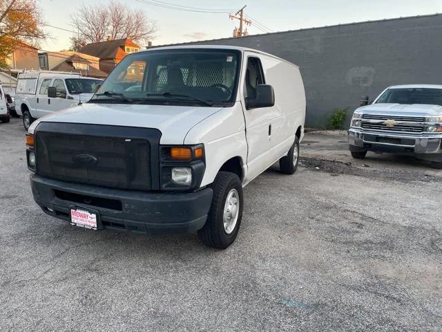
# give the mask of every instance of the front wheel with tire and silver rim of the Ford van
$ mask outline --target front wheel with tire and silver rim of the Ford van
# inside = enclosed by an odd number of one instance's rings
[[[212,204],[198,236],[206,246],[226,249],[236,239],[242,219],[242,183],[238,175],[219,172],[211,185]]]

